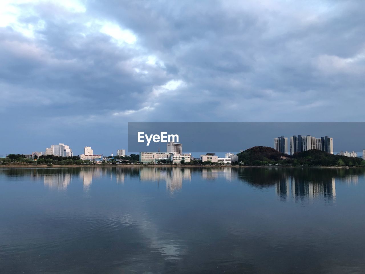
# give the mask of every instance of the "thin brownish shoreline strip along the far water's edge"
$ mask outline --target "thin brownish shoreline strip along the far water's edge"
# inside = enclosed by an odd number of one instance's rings
[[[199,168],[218,168],[218,167],[231,167],[231,168],[362,168],[362,167],[348,167],[348,166],[322,166],[322,165],[159,165],[159,164],[89,164],[89,165],[0,165],[0,168],[62,168],[62,167],[199,167]]]

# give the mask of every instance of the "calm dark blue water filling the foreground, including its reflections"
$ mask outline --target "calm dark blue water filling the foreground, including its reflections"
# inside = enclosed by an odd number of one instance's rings
[[[365,273],[365,170],[0,168],[0,273]]]

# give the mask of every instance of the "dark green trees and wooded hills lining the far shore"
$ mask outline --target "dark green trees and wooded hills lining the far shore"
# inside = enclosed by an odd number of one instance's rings
[[[40,156],[39,159],[27,159],[25,155],[10,154],[0,158],[3,167],[84,167],[84,166],[153,166],[153,167],[365,167],[361,158],[333,155],[316,149],[287,155],[268,146],[254,146],[237,154],[238,162],[223,165],[201,160],[172,164],[168,160],[160,160],[158,164],[139,163],[139,155],[108,157],[108,161],[96,163],[81,160],[79,156],[61,157],[54,155]]]

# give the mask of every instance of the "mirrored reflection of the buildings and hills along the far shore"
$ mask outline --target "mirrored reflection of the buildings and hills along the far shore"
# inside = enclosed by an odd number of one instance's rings
[[[49,189],[66,190],[73,178],[82,181],[88,191],[93,180],[109,177],[124,184],[126,178],[139,178],[141,182],[163,182],[170,193],[181,190],[184,182],[192,182],[194,176],[204,180],[238,180],[255,188],[275,187],[280,201],[308,201],[323,198],[335,201],[336,183],[358,184],[363,169],[336,168],[235,168],[235,167],[85,167],[85,168],[1,168],[0,175],[11,178],[29,176],[32,180],[43,179]]]

